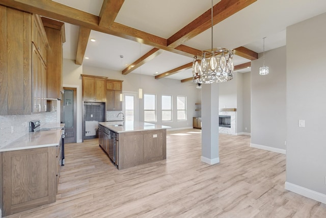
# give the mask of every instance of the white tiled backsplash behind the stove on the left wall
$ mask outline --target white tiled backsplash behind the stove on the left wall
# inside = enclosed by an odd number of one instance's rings
[[[56,122],[57,112],[0,116],[0,148],[28,133],[29,122],[34,119],[39,119],[42,123]]]

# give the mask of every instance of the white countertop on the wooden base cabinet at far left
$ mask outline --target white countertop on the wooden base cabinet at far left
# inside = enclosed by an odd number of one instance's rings
[[[58,146],[61,134],[62,130],[29,132],[6,147],[0,148],[0,152]]]

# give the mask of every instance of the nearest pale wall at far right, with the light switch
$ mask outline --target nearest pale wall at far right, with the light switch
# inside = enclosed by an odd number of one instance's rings
[[[326,13],[287,28],[286,188],[326,203]],[[298,120],[305,127],[298,127]]]

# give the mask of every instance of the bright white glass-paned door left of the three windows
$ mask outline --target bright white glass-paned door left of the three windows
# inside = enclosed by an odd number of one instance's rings
[[[138,121],[138,99],[136,92],[123,92],[124,101],[122,103],[125,122]]]

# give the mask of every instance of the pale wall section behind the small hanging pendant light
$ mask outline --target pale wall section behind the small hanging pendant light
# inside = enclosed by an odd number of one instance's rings
[[[262,54],[251,62],[251,143],[253,147],[285,153],[286,48],[265,52],[269,74],[259,75]]]

